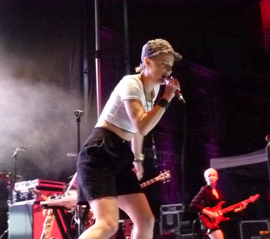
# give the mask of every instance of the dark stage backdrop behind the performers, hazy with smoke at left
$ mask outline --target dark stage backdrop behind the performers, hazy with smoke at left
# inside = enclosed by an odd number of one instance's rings
[[[167,39],[183,55],[174,76],[187,104],[174,99],[153,129],[157,165],[150,136],[144,144],[143,180],[163,169],[172,174],[171,182],[146,188],[156,216],[161,204],[191,201],[204,184],[211,157],[266,145],[269,55],[260,4],[221,2],[128,1],[132,74],[149,39]],[[125,74],[121,1],[101,1],[100,24],[104,106]],[[0,171],[12,170],[11,156],[22,146],[28,149],[17,157],[24,180],[67,182],[76,171],[76,157],[67,156],[77,152],[73,111],[85,111],[82,143],[97,118],[94,1],[1,1],[0,35]],[[1,192],[4,205],[6,193]]]

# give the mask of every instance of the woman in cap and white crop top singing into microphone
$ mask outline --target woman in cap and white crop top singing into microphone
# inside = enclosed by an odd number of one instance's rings
[[[154,217],[139,184],[143,175],[143,137],[156,126],[176,90],[180,90],[177,80],[166,77],[171,74],[174,61],[181,58],[168,41],[148,41],[136,68],[138,74],[123,77],[112,92],[79,153],[78,200],[80,204],[89,203],[96,218],[80,239],[114,235],[118,229],[118,207],[135,225],[133,239],[153,238]],[[162,84],[166,84],[165,92],[153,106]],[[130,140],[131,149],[127,144]]]

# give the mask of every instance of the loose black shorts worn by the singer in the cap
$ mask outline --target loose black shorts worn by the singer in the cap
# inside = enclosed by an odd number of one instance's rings
[[[97,127],[80,150],[77,162],[78,204],[101,197],[142,192],[127,141]]]

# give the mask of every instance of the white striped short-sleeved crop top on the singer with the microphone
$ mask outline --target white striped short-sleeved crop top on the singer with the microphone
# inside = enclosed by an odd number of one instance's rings
[[[158,92],[159,85],[154,87],[155,91],[155,101]],[[109,100],[107,101],[102,113],[99,117],[100,119],[105,119],[112,125],[129,131],[131,133],[136,133],[137,130],[133,126],[129,116],[126,112],[125,104],[123,100],[126,99],[136,99],[141,101],[144,112],[148,112],[151,110],[151,101],[147,101],[144,96],[144,88],[141,80],[137,75],[127,75],[124,76],[122,80],[117,84],[114,88],[114,91],[111,93]],[[148,105],[148,110],[147,110]]]

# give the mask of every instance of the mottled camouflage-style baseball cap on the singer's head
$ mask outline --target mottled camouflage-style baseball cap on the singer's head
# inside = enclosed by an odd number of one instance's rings
[[[156,56],[160,53],[171,53],[174,55],[174,60],[179,61],[182,59],[182,56],[174,52],[174,49],[168,43],[168,41],[165,41],[163,39],[155,39],[148,41],[144,46],[143,50],[141,52],[141,62],[144,61],[145,57],[152,57]]]

